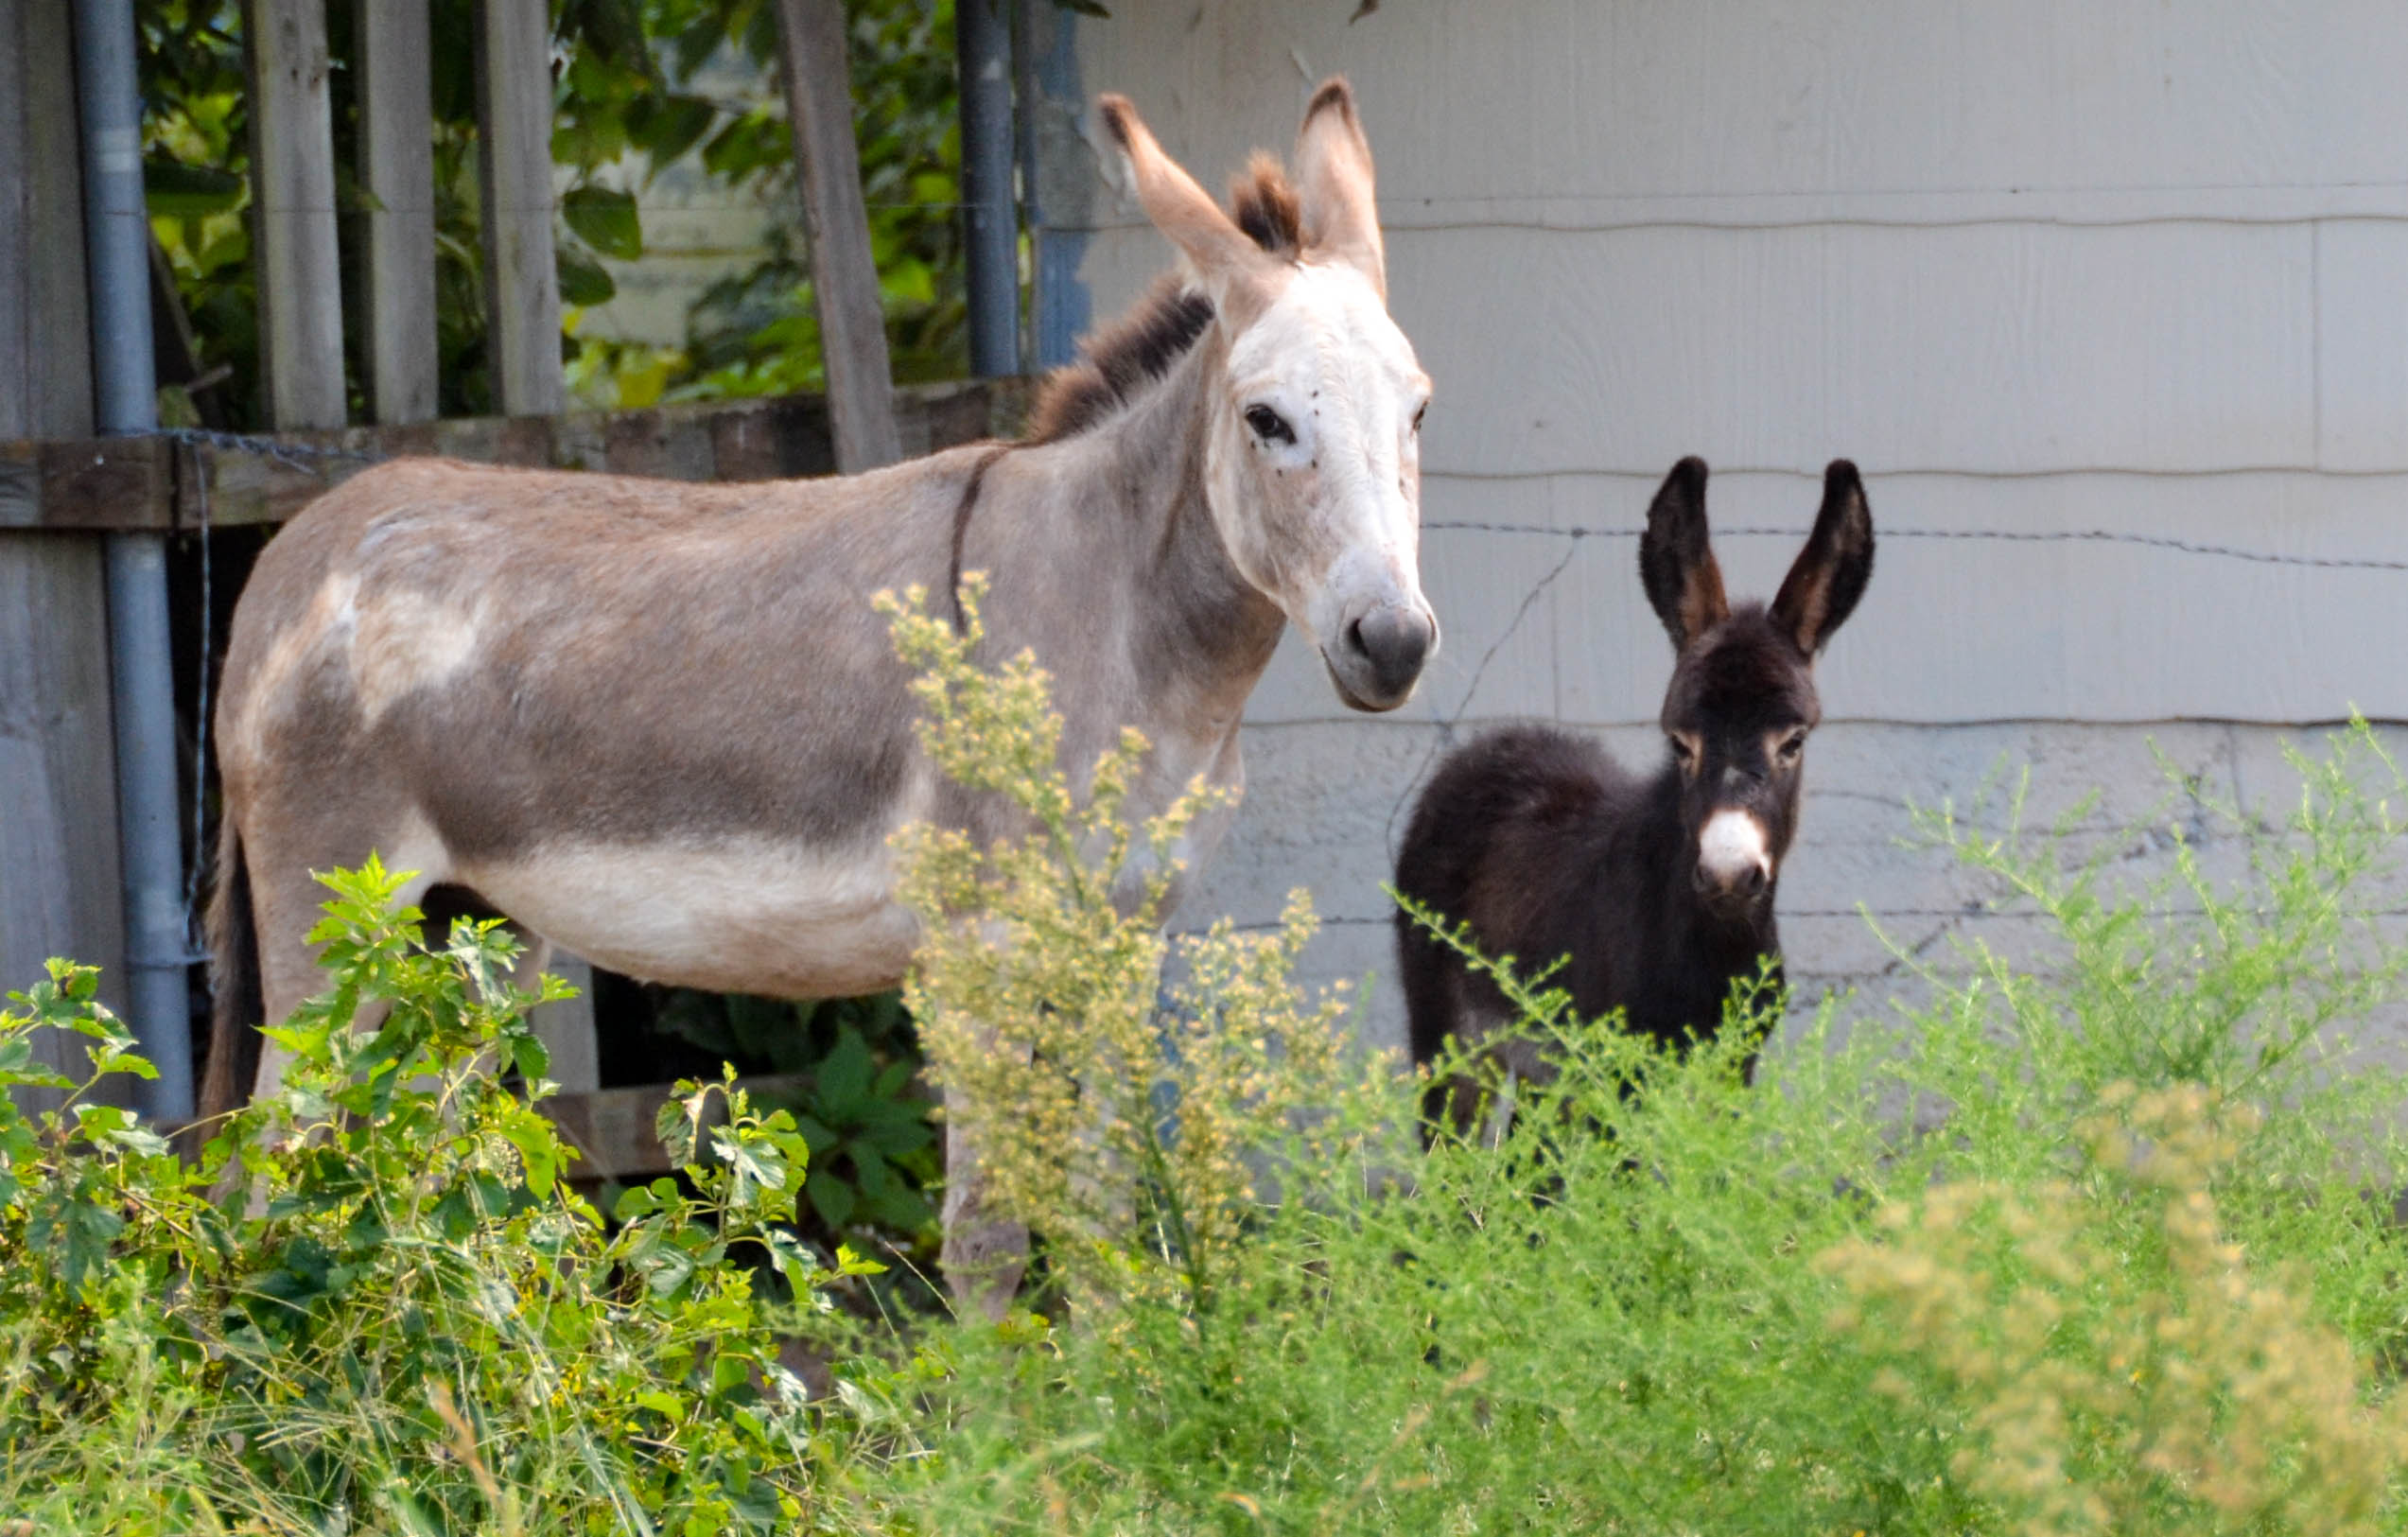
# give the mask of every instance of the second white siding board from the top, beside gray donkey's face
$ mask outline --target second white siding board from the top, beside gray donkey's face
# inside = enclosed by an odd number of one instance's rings
[[[2314,229],[1392,231],[1426,465],[2249,470],[2316,463]],[[1110,316],[1168,265],[1103,234]],[[2408,467],[2408,446],[2389,467]]]

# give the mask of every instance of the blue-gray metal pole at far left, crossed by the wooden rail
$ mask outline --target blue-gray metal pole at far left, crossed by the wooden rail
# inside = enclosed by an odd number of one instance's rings
[[[75,2],[75,89],[84,145],[84,260],[92,272],[92,395],[104,434],[159,426],[152,376],[149,222],[142,207],[142,96],[132,0]],[[193,1113],[183,848],[176,834],[176,677],[169,667],[166,535],[108,535],[108,682],[118,737],[118,843],[132,1029],[159,1077],[137,1106]]]

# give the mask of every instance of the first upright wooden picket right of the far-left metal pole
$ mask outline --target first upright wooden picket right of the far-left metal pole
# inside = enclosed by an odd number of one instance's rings
[[[320,0],[248,0],[260,373],[282,429],[342,426],[342,258]]]

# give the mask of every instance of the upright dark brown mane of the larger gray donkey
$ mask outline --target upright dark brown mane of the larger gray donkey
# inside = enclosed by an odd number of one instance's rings
[[[1228,217],[1271,255],[1303,251],[1303,205],[1279,161],[1257,152],[1228,186]],[[1079,342],[1079,361],[1055,369],[1028,419],[1031,443],[1072,438],[1170,373],[1211,325],[1211,299],[1178,272],[1156,279],[1117,323]]]

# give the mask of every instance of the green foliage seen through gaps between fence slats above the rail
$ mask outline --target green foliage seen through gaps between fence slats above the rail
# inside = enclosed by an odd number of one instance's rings
[[[137,0],[144,92],[144,183],[152,229],[193,318],[202,376],[234,426],[260,422],[258,292],[250,265],[250,142],[236,0]],[[563,169],[559,275],[563,366],[588,405],[650,405],[662,395],[720,398],[811,390],[824,383],[809,282],[790,241],[751,272],[715,284],[689,316],[681,349],[588,335],[585,308],[616,284],[602,258],[641,260],[636,190],[696,157],[730,195],[792,210],[792,137],[778,92],[778,12],[771,0],[554,0],[554,135]],[[474,128],[474,0],[431,2],[436,111],[436,328],[441,414],[494,410],[484,347]],[[356,82],[352,7],[327,10],[337,60],[337,207],[356,214]],[[898,381],[966,369],[951,2],[855,0],[848,7],[855,123],[872,248],[886,296]],[[761,75],[759,99],[715,101],[686,89],[713,55]],[[344,294],[359,294],[356,219],[344,219]],[[354,306],[356,308],[356,306]],[[356,332],[349,359],[361,402]]]

